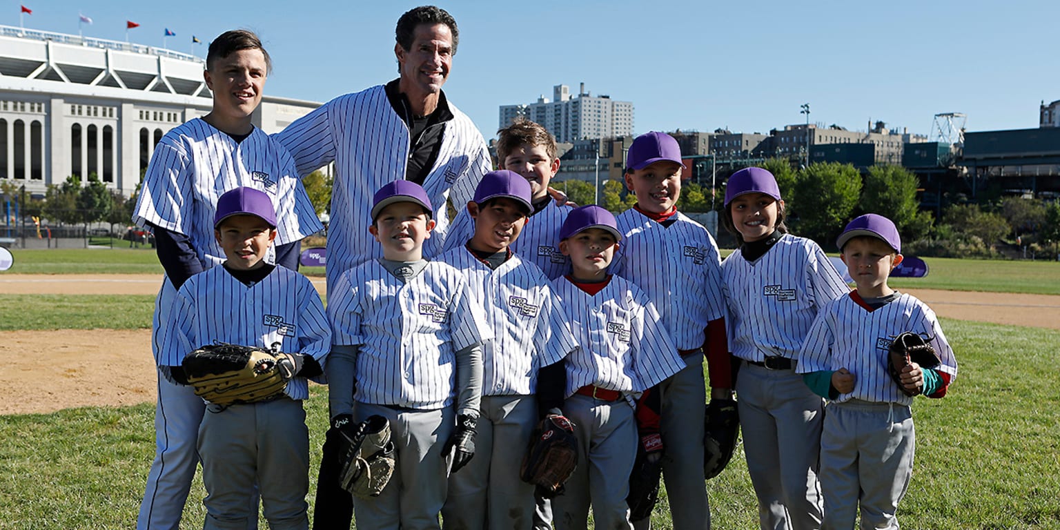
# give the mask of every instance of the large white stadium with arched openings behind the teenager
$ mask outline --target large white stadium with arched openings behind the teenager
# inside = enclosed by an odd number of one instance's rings
[[[43,195],[90,174],[128,196],[155,145],[212,107],[194,55],[0,25],[0,182]],[[252,122],[276,132],[318,103],[265,96]]]

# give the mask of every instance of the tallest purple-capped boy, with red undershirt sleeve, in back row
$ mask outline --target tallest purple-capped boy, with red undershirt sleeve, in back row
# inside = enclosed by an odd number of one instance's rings
[[[648,132],[630,145],[625,186],[637,204],[618,215],[625,240],[612,270],[644,290],[688,365],[660,385],[667,445],[662,479],[678,530],[710,527],[704,481],[705,349],[711,408],[732,405],[721,258],[710,232],[677,211],[683,167],[681,147],[670,135]]]

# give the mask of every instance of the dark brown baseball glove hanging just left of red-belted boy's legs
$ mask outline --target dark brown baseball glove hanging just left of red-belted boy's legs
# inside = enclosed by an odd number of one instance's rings
[[[530,436],[519,477],[534,484],[542,497],[552,498],[563,493],[563,483],[577,466],[575,424],[562,416],[546,417]]]

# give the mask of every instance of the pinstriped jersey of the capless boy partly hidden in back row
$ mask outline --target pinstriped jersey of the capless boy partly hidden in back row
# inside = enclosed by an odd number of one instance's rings
[[[475,219],[467,213],[467,207],[457,209],[459,213],[445,237],[445,250],[462,247],[475,235]],[[560,227],[571,210],[573,208],[556,205],[550,199],[544,210],[527,219],[518,238],[511,245],[513,252],[541,267],[549,280],[570,272],[570,258],[560,252]]]

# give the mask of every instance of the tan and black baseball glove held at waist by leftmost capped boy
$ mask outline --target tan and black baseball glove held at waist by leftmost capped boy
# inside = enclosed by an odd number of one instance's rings
[[[240,344],[207,344],[184,356],[181,367],[195,395],[215,405],[276,398],[287,386],[287,356]],[[287,375],[287,376],[285,376]]]

